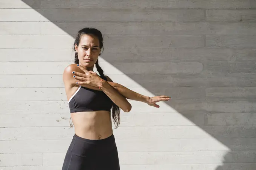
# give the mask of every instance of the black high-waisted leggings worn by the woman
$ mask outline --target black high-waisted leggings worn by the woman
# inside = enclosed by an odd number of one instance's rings
[[[62,170],[120,170],[114,135],[90,140],[74,135]]]

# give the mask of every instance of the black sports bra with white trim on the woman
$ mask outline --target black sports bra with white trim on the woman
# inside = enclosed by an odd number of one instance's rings
[[[79,111],[110,111],[113,101],[102,91],[79,86],[69,99],[70,113]]]

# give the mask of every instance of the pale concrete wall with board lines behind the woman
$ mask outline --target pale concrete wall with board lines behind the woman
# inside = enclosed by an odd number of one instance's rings
[[[62,73],[83,27],[105,74],[143,95],[114,129],[122,170],[256,169],[255,0],[0,1],[0,170],[59,170]]]

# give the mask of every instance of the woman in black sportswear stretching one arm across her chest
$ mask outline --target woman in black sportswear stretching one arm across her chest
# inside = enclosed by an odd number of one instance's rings
[[[67,66],[63,73],[75,134],[62,170],[119,170],[110,110],[117,128],[120,108],[124,112],[131,110],[127,99],[154,107],[159,107],[156,102],[170,99],[168,96],[150,98],[114,83],[99,66],[102,48],[103,38],[99,30],[79,30],[74,42],[75,64]],[[93,72],[94,64],[100,75]]]

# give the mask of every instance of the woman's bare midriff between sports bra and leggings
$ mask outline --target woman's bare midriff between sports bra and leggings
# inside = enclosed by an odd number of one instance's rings
[[[71,113],[75,134],[79,137],[100,140],[113,133],[109,111],[82,111]]]

